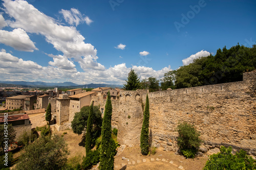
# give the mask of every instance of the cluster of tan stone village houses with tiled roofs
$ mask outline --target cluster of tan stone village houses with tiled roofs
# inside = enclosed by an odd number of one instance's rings
[[[70,128],[71,122],[76,112],[84,106],[90,106],[92,98],[100,96],[102,99],[106,99],[108,92],[110,91],[111,99],[118,100],[120,89],[114,89],[111,87],[98,87],[92,91],[82,90],[82,88],[67,90],[65,94],[60,93],[57,88],[54,91],[48,91],[43,95],[17,95],[6,98],[6,109],[22,109],[19,114],[26,114],[26,111],[44,109],[46,110],[48,104],[51,103],[53,119],[56,120],[57,130]],[[52,93],[55,96],[49,95]],[[100,108],[101,113],[104,112],[104,108]],[[35,114],[33,113],[33,114]],[[33,124],[33,122],[32,122]],[[33,127],[36,125],[33,125]]]

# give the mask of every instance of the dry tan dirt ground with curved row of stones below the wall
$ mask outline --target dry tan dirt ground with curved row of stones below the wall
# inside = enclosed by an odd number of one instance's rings
[[[122,160],[122,157],[126,158]],[[140,148],[126,147],[124,151],[115,157],[115,170],[117,169],[189,169],[198,170],[203,169],[207,157],[201,157],[198,159],[185,159],[179,155],[175,155],[174,152],[166,152],[161,149],[157,149],[155,155],[142,156]]]

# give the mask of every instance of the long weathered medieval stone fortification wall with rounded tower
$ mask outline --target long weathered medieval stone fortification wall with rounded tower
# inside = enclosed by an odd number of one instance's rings
[[[256,155],[256,70],[246,72],[243,81],[183,89],[150,92],[120,91],[112,100],[112,126],[118,129],[120,144],[139,145],[146,94],[150,101],[150,143],[176,150],[175,131],[179,122],[195,125],[205,148],[231,145]],[[93,99],[104,108],[105,99]]]

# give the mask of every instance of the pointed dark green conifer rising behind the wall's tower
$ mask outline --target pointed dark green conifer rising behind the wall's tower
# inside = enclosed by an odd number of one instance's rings
[[[123,87],[126,90],[137,90],[140,89],[140,79],[138,78],[138,74],[132,69],[129,72],[129,75],[127,77],[126,84],[123,85]]]

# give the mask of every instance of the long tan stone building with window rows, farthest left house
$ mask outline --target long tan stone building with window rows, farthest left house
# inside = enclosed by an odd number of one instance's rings
[[[24,108],[24,100],[26,98],[27,95],[16,95],[6,98],[6,108],[8,110]]]

